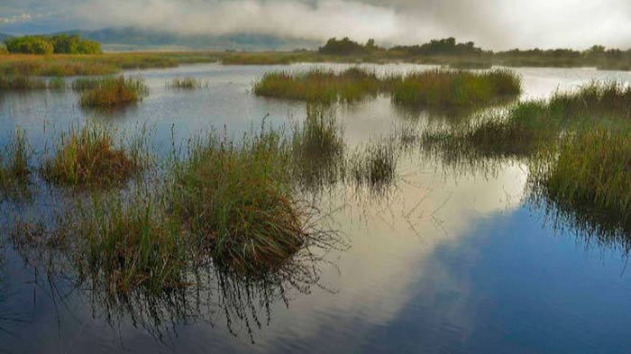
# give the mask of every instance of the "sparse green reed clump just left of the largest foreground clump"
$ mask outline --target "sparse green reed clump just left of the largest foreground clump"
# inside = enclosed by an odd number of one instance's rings
[[[61,226],[78,248],[75,265],[110,295],[186,286],[187,239],[144,188],[131,195],[92,195]]]

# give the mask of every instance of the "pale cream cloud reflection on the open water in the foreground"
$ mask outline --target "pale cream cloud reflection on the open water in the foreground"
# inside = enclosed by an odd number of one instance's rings
[[[402,169],[415,168],[415,164],[418,168],[418,159],[407,161],[409,165]],[[289,312],[274,313],[274,331],[261,333],[263,345],[266,340],[272,345],[285,336],[305,340],[322,336],[339,338],[330,344],[335,345],[335,351],[353,352],[355,348],[340,350],[340,346],[357,345],[361,342],[358,338],[397,318],[418,295],[420,278],[431,278],[441,288],[453,289],[453,294],[468,291],[432,258],[471,236],[479,221],[515,210],[521,204],[526,172],[520,166],[508,165],[489,178],[469,175],[445,180],[436,177],[434,170],[409,178],[412,180],[399,185],[391,203],[370,201],[336,216],[352,240],[352,249],[335,261],[340,274],[329,272],[324,279],[326,286],[338,292],[300,296],[290,304]],[[362,222],[350,222],[357,220]],[[284,321],[282,315],[294,320]],[[353,340],[343,340],[345,335]],[[327,351],[327,345],[323,343],[320,349]]]

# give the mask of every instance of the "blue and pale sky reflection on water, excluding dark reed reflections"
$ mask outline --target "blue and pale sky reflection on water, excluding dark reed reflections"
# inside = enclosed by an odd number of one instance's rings
[[[307,66],[292,69],[303,67]],[[408,66],[379,67],[398,68]],[[247,131],[252,124],[256,129],[267,113],[275,124],[287,123],[288,116],[301,118],[304,104],[248,93],[263,71],[216,65],[147,71],[143,75],[151,95],[122,116],[105,119],[122,129],[155,124],[156,141],[164,144],[171,126],[178,141],[183,141],[211,125],[219,129],[225,125],[230,132]],[[517,71],[529,97],[549,95],[557,86],[571,88],[592,77],[626,80],[623,73],[583,69]],[[209,88],[194,92],[165,88],[165,81],[176,75],[207,78]],[[43,136],[44,120],[63,127],[84,117],[73,106],[76,101],[72,92],[5,94],[0,127],[8,132],[22,125],[41,148],[44,142],[36,138]],[[386,98],[340,113],[352,145],[388,134],[397,123]],[[251,346],[244,329],[235,339],[223,322],[215,320],[215,327],[178,326],[175,348],[182,352],[209,348],[581,352],[608,342],[608,352],[624,352],[631,346],[618,336],[631,322],[624,298],[629,282],[620,274],[619,255],[586,253],[571,237],[553,237],[552,231],[542,228],[539,212],[530,215],[522,205],[525,167],[505,164],[495,174],[453,177],[410,153],[399,172],[400,181],[389,199],[357,201],[349,192],[346,198],[330,201],[346,206],[334,213],[334,222],[352,246],[329,255],[335,267],[325,267],[322,284],[334,293],[314,288],[311,295],[294,295],[288,310],[275,304],[270,326],[254,333],[256,346]],[[12,261],[12,278],[18,285],[31,277],[20,274],[19,268]],[[32,319],[19,328],[18,340],[5,343],[21,343],[15,345],[22,352],[123,351],[113,343],[111,329],[92,318],[85,299],[73,298],[56,310],[41,289],[32,294],[32,287],[23,285],[9,300],[15,307],[31,309]],[[124,324],[121,333],[125,349],[155,352],[144,331]],[[25,340],[32,337],[36,340]]]

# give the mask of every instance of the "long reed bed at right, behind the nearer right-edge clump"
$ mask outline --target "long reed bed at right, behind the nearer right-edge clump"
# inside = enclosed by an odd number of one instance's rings
[[[531,157],[553,146],[563,132],[586,124],[624,123],[631,114],[631,88],[592,83],[545,101],[519,103],[508,113],[492,113],[473,123],[425,132],[427,150],[480,157]]]

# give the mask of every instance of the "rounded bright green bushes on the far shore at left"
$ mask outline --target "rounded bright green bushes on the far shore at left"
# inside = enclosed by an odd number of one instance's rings
[[[9,53],[20,54],[100,54],[101,44],[79,36],[23,36],[5,39]]]

